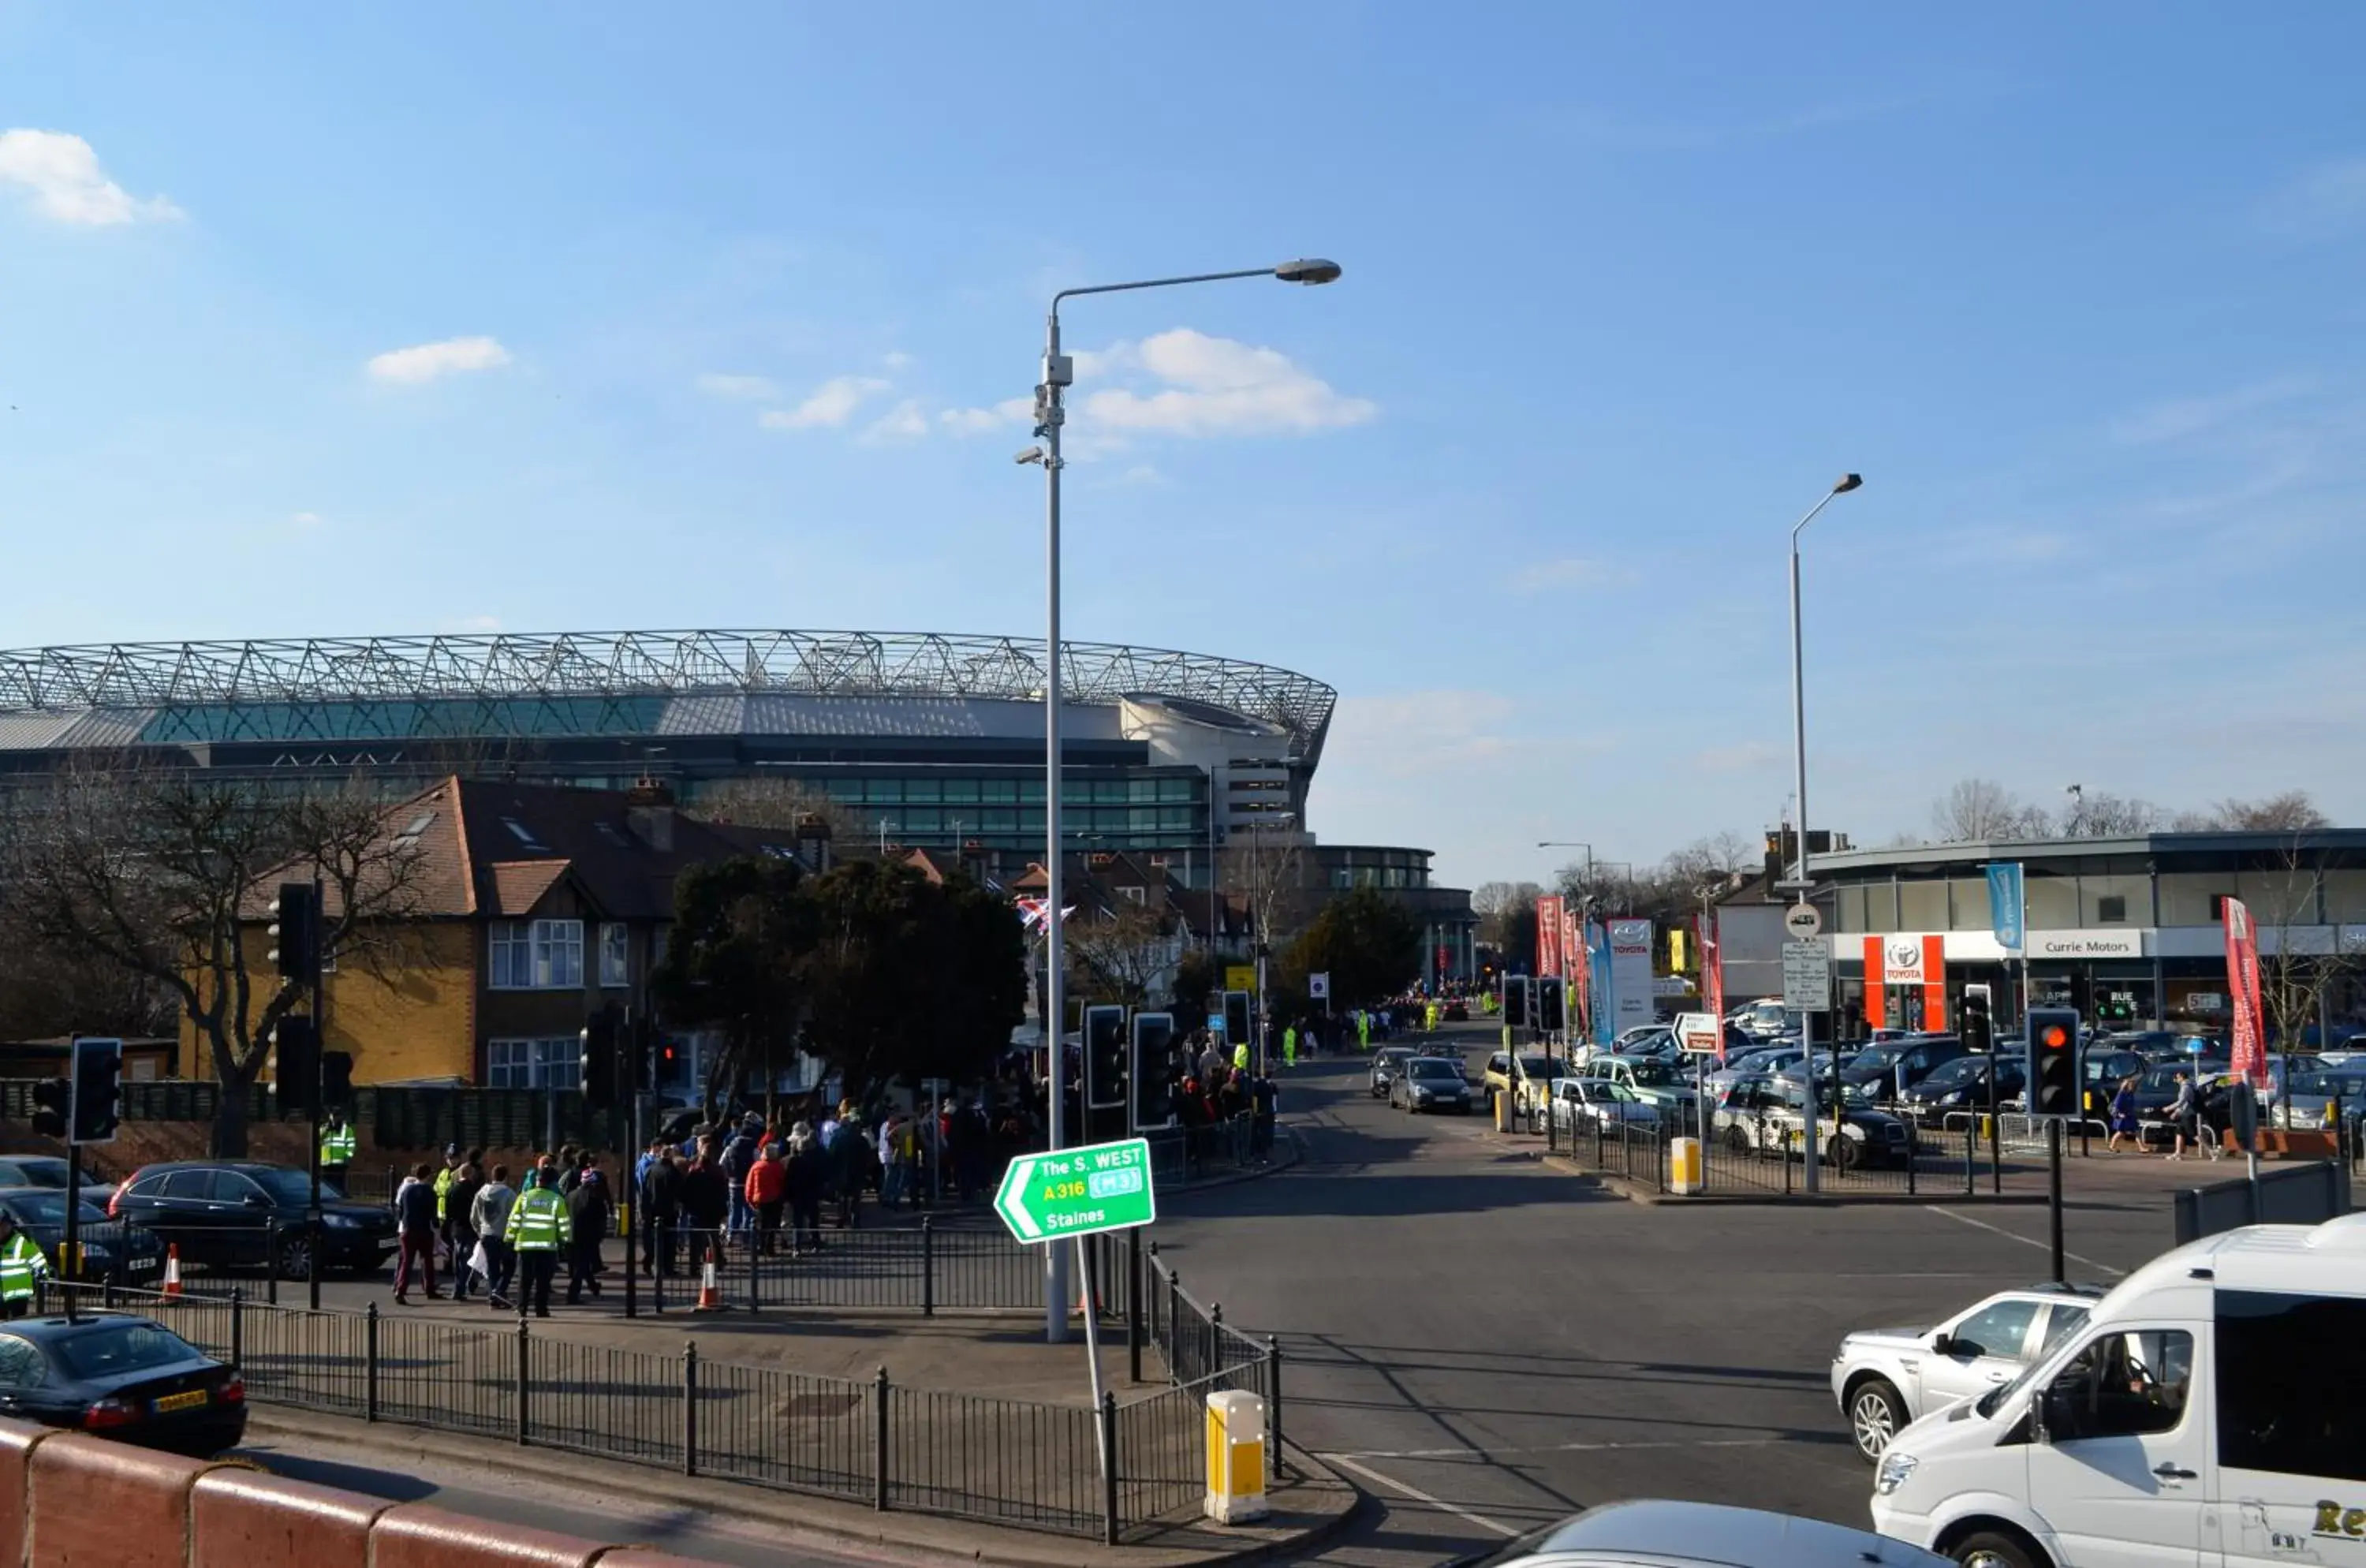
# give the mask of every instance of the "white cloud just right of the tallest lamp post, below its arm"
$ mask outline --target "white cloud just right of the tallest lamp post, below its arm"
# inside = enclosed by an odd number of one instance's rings
[[[1370,400],[1342,397],[1287,355],[1188,326],[1077,359],[1079,378],[1138,369],[1159,383],[1086,395],[1084,416],[1112,430],[1282,435],[1360,426],[1379,414]]]

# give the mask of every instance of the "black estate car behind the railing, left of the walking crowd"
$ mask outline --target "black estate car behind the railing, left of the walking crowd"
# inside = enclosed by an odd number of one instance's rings
[[[132,1171],[106,1213],[180,1246],[182,1263],[232,1268],[277,1258],[282,1279],[303,1279],[312,1272],[310,1197],[310,1178],[289,1166],[185,1159]],[[395,1251],[395,1216],[383,1204],[350,1201],[336,1183],[322,1183],[319,1197],[322,1268],[383,1268]]]

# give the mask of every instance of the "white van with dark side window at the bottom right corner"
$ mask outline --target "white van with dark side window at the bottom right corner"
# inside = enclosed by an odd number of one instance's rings
[[[2366,1213],[2146,1263],[1900,1431],[1874,1528],[1978,1568],[2366,1563]]]

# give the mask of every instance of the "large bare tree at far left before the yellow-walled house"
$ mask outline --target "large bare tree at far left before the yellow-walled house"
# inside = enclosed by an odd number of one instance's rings
[[[421,856],[369,780],[260,785],[203,773],[78,771],[0,816],[5,925],[170,996],[222,1086],[213,1152],[246,1152],[246,1090],[298,1000],[256,974],[279,880],[322,882],[322,953],[388,977],[409,953]]]

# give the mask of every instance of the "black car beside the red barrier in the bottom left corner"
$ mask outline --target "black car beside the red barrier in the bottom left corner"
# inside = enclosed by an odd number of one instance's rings
[[[246,1384],[147,1317],[19,1317],[0,1322],[0,1417],[211,1457],[246,1436]]]

